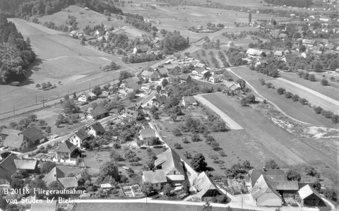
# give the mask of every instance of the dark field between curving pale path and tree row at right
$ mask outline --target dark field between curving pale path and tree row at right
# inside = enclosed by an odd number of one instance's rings
[[[299,121],[304,121],[307,123],[312,123],[314,125],[320,125],[325,126],[328,128],[335,128],[336,125],[332,123],[331,120],[326,119],[325,117],[316,114],[312,108],[308,106],[303,106],[299,102],[292,102],[292,100],[287,99],[284,95],[278,95],[276,89],[268,89],[266,86],[261,85],[261,83],[258,81],[258,78],[267,78],[268,76],[263,75],[261,73],[257,73],[256,71],[250,71],[248,67],[239,67],[239,68],[232,68],[232,71],[239,75],[240,77],[244,78],[248,83],[250,83],[263,97],[266,99],[274,102],[280,109],[283,109],[283,111],[286,112],[286,114],[294,117],[295,119],[298,119]],[[233,74],[230,73],[232,76]],[[272,82],[275,83],[276,79],[272,80],[266,80],[266,82]],[[280,85],[275,85],[275,88],[279,88]],[[293,90],[290,90],[291,85],[289,85],[286,90],[291,91],[293,93]],[[307,92],[301,92],[300,97],[306,97],[307,100],[311,102],[311,104],[318,104],[321,103],[323,100],[319,97],[319,99],[316,102],[312,102],[311,99],[309,99],[308,95],[311,96],[311,94],[308,94],[306,96]],[[316,95],[313,95],[314,97],[317,97]],[[314,98],[313,98],[314,99]],[[328,104],[328,103],[326,103]]]

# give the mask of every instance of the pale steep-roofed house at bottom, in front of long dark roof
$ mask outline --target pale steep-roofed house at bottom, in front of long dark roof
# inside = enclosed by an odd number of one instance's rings
[[[266,183],[263,175],[254,183],[250,193],[257,206],[281,207],[283,205],[283,198],[272,186]]]

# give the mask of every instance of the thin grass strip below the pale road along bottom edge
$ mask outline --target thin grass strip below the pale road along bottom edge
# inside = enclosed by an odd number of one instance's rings
[[[197,211],[201,210],[201,205],[175,205],[175,204],[154,204],[154,203],[78,203],[75,207],[77,211],[108,211],[108,210],[119,210],[119,211],[172,211],[172,210],[185,210],[185,211]],[[215,211],[225,210],[225,207],[213,207]],[[232,208],[234,211],[240,209]]]

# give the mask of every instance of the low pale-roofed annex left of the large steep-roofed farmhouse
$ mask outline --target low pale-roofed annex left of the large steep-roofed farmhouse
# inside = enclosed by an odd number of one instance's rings
[[[167,182],[165,171],[162,169],[143,171],[143,181],[152,183],[153,190],[158,191],[162,189]]]

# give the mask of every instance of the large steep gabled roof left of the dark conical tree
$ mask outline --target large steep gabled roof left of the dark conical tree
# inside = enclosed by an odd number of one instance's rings
[[[157,166],[161,166],[166,175],[174,168],[176,168],[182,175],[185,174],[180,156],[171,148],[157,155],[157,159],[155,159],[155,167]]]

